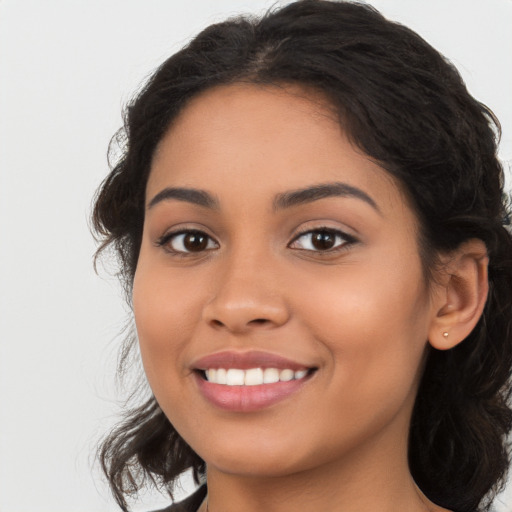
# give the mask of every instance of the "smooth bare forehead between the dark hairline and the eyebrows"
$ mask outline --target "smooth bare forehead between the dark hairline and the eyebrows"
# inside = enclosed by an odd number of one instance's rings
[[[321,93],[232,84],[193,98],[173,122],[155,152],[147,196],[169,186],[222,196],[334,181],[405,205],[400,185],[349,141]]]

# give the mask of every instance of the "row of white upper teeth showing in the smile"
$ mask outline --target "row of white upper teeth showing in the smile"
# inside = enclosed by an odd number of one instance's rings
[[[250,368],[240,370],[238,368],[208,368],[205,370],[206,380],[214,384],[227,386],[259,386],[261,384],[274,384],[275,382],[288,382],[290,380],[303,379],[308,370],[294,372],[290,368],[279,370],[277,368]]]

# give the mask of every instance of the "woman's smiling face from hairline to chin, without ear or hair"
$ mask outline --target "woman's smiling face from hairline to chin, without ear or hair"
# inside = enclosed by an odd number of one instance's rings
[[[133,290],[144,367],[209,467],[403,460],[435,316],[416,219],[322,98],[203,93],[161,141],[146,197]]]

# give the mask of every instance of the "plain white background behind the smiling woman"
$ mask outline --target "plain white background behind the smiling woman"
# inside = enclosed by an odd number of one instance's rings
[[[115,279],[93,273],[87,225],[109,138],[190,36],[274,3],[0,0],[0,512],[117,510],[92,454],[114,421],[126,311]],[[501,119],[510,168],[512,1],[374,5],[453,60]]]

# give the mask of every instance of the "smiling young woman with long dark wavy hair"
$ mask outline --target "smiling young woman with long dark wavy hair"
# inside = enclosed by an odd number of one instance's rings
[[[101,459],[123,510],[486,510],[508,466],[497,122],[369,6],[213,25],[130,105],[96,199],[152,396]]]

